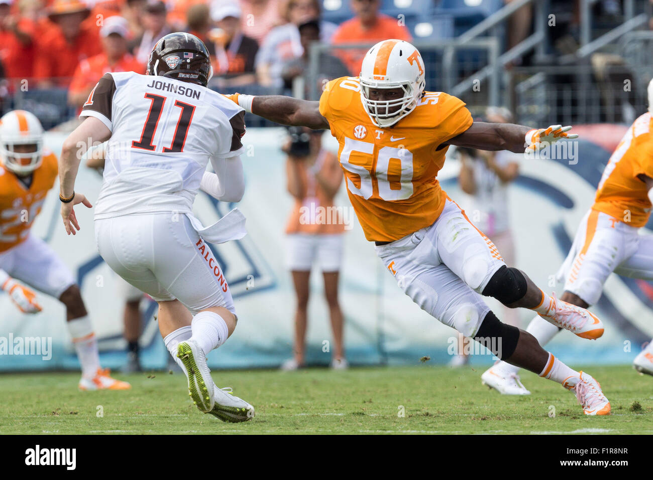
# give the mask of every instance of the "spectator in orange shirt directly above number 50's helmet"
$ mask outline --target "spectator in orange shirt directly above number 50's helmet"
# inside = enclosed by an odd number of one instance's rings
[[[379,13],[381,0],[351,0],[351,9],[356,16],[343,22],[334,33],[331,43],[363,43],[370,47],[387,38],[411,41],[411,35],[404,25],[394,17]],[[360,64],[368,49],[340,50],[338,56],[347,65],[353,76],[360,74]]]

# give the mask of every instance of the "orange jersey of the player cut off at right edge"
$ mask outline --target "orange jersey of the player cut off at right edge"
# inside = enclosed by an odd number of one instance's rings
[[[610,157],[596,191],[592,209],[607,213],[633,227],[645,226],[650,216],[646,184],[653,178],[653,119],[645,113],[631,125]]]

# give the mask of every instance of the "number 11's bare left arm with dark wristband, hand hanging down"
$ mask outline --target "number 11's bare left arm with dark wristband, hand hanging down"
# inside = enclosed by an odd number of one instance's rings
[[[75,128],[63,142],[61,159],[59,160],[59,199],[61,200],[61,218],[66,233],[74,235],[75,228],[80,230],[79,223],[72,209],[74,205],[83,203],[90,208],[91,202],[86,200],[84,194],[75,193],[75,179],[82,161],[82,155],[97,142],[104,142],[111,136],[102,121],[95,117],[87,117],[82,125]]]

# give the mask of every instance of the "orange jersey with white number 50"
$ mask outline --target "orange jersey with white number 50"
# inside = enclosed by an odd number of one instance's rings
[[[413,112],[381,128],[363,107],[358,77],[342,77],[327,84],[319,110],[340,143],[349,200],[369,241],[394,241],[436,221],[447,198],[436,179],[447,147],[438,147],[473,123],[462,100],[424,92]]]

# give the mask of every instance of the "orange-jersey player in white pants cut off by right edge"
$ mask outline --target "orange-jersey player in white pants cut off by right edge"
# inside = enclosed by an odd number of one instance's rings
[[[653,235],[640,235],[653,208],[653,80],[648,112],[638,117],[603,170],[594,205],[585,214],[571,250],[556,275],[565,280],[562,299],[587,308],[601,297],[611,273],[653,280]],[[535,315],[526,329],[541,345],[559,329]],[[633,361],[635,370],[653,375],[653,340]],[[511,385],[518,368],[500,362],[483,373],[486,385],[505,395],[528,395]]]

